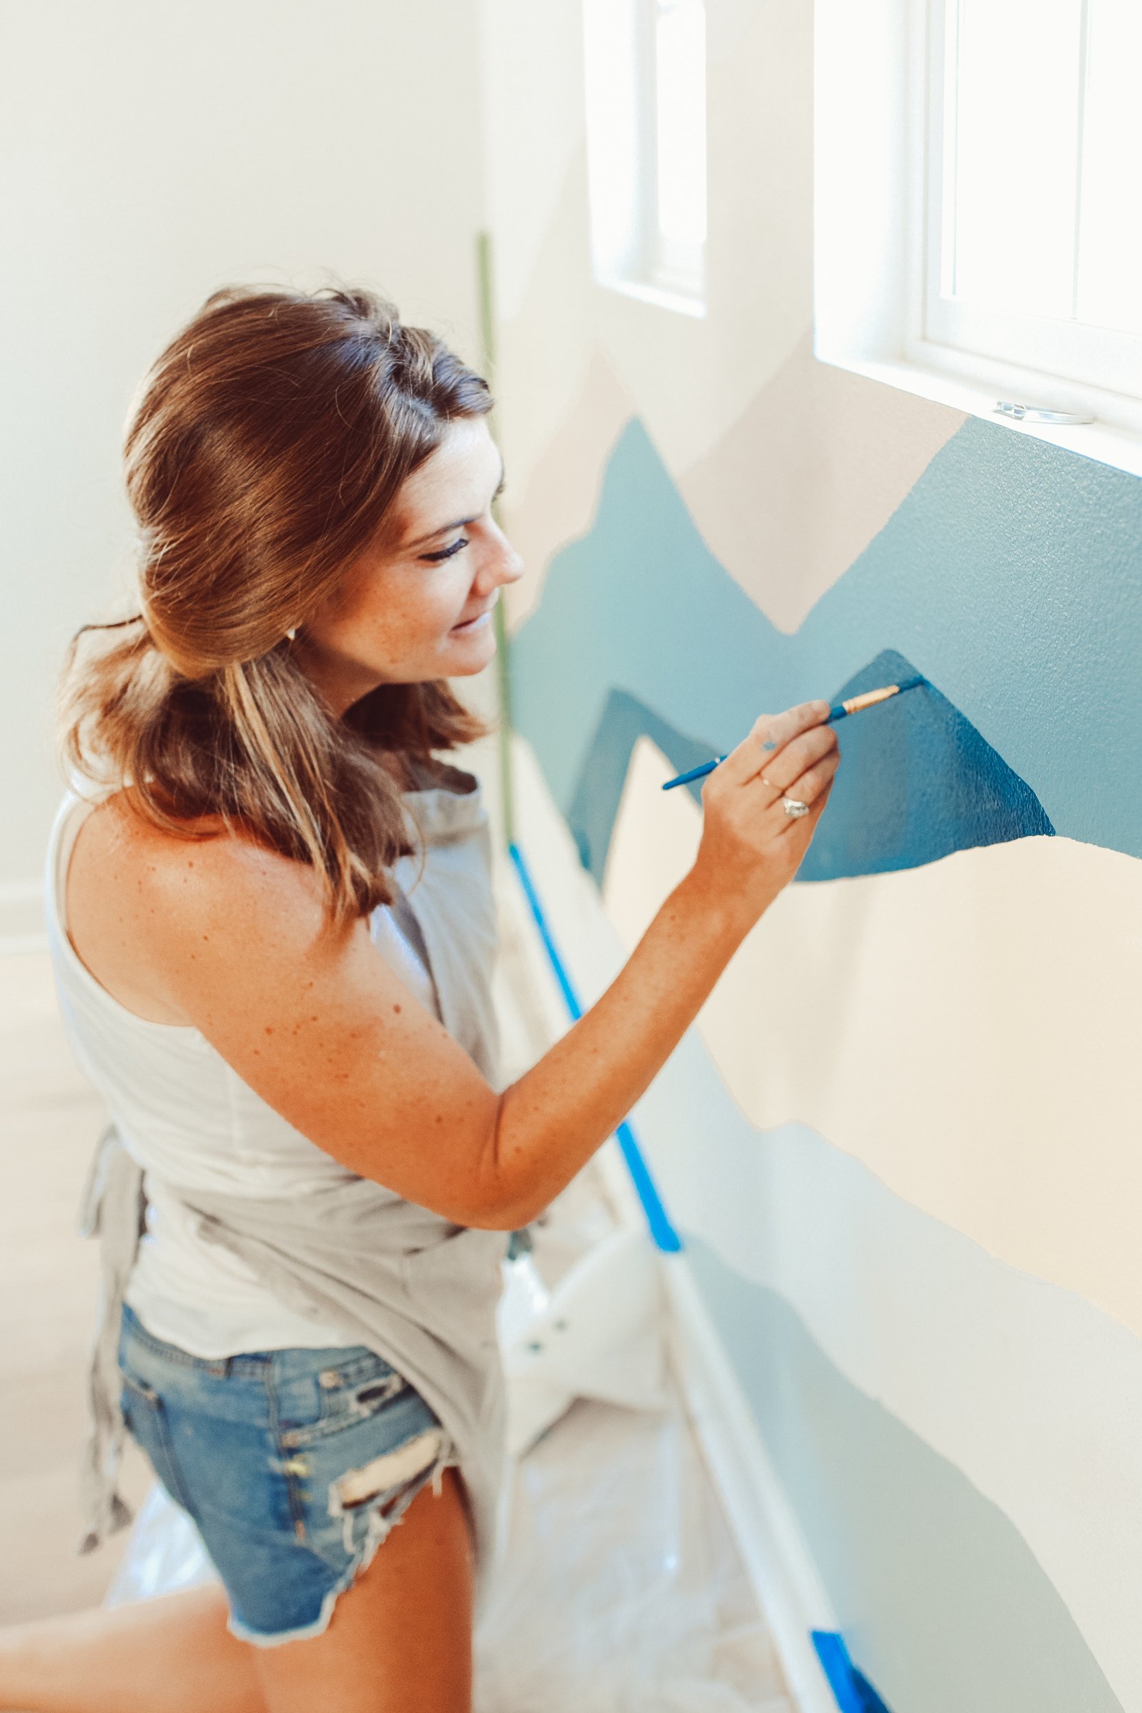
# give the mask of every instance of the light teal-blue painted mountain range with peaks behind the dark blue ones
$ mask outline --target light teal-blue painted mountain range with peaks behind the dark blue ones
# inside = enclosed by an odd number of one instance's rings
[[[693,766],[760,713],[832,699],[883,649],[938,685],[1056,833],[1142,855],[1142,791],[1123,788],[1142,754],[1142,483],[976,418],[796,636],[711,555],[632,423],[591,531],[514,639],[515,723],[567,814],[613,687],[704,745]]]

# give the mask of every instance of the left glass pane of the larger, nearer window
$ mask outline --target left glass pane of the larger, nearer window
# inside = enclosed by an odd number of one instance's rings
[[[959,0],[949,190],[964,301],[1072,313],[1080,19],[1080,0]]]

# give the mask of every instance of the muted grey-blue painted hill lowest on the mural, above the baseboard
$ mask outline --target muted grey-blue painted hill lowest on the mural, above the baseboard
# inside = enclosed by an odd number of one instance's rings
[[[685,1235],[844,1632],[887,1704],[897,1713],[1121,1713],[1003,1513],[858,1391],[781,1297]],[[854,1703],[859,1713],[875,1706]]]

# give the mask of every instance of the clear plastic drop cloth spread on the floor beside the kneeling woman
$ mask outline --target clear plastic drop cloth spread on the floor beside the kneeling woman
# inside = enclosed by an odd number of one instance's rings
[[[212,1579],[156,1485],[108,1603]],[[579,1401],[512,1466],[474,1713],[794,1713],[680,1406]]]

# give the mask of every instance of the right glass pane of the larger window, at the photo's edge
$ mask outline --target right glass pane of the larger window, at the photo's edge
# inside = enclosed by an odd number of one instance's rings
[[[1142,0],[1091,0],[1079,320],[1142,332]]]

